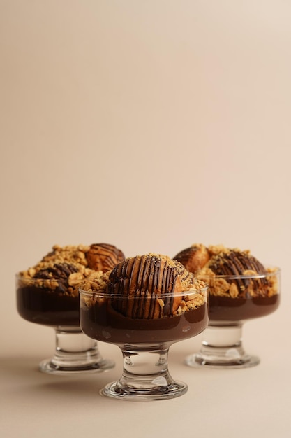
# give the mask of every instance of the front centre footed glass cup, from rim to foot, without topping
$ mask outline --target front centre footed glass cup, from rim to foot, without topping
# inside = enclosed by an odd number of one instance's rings
[[[200,305],[177,316],[144,319],[124,316],[123,311],[126,313],[126,309],[133,309],[133,306],[144,309],[161,295],[110,295],[80,290],[83,332],[93,339],[116,344],[124,359],[120,379],[108,383],[101,390],[102,395],[119,400],[151,401],[186,393],[186,383],[176,381],[170,375],[168,351],[174,342],[194,337],[207,327],[207,287],[199,291],[163,294],[165,305],[171,306],[177,296],[193,302],[200,299]]]

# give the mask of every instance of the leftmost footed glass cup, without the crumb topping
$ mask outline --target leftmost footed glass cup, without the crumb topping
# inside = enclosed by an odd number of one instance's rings
[[[101,357],[97,341],[87,337],[80,329],[79,297],[57,293],[47,285],[47,280],[26,279],[20,274],[16,275],[19,315],[31,323],[55,330],[54,355],[40,362],[40,371],[80,374],[103,372],[114,367],[112,360]]]

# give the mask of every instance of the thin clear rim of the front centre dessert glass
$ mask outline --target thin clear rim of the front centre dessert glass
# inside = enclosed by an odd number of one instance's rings
[[[79,288],[80,297],[99,297],[99,298],[123,298],[123,299],[146,299],[146,298],[156,298],[156,299],[164,299],[164,298],[176,298],[176,297],[186,297],[192,295],[198,295],[200,293],[207,295],[207,291],[209,290],[209,285],[204,285],[203,288],[197,289],[193,288],[190,290],[181,290],[181,292],[165,292],[165,293],[142,293],[142,294],[119,294],[119,293],[110,293],[107,291],[99,291],[99,290],[84,290]]]

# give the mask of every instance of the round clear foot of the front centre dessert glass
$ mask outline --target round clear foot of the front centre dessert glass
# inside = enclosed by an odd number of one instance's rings
[[[101,395],[115,399],[151,402],[152,400],[167,400],[179,397],[187,392],[188,386],[181,381],[174,381],[167,386],[154,386],[152,388],[133,388],[121,386],[119,381],[108,383],[100,391]]]

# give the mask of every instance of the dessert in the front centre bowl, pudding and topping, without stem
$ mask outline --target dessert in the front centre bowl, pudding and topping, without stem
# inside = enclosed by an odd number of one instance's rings
[[[203,281],[170,257],[129,257],[80,290],[80,323],[93,339],[114,344],[170,342],[208,323]]]

